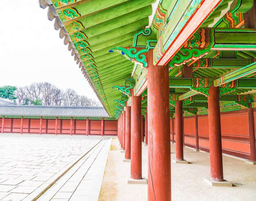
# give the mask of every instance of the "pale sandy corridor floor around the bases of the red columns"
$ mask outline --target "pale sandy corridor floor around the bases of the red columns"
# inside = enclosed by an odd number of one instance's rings
[[[147,201],[146,184],[127,184],[130,162],[123,162],[117,138],[112,140],[100,201]],[[142,144],[142,176],[147,178],[147,150]],[[171,144],[171,158],[175,158],[175,144]],[[223,155],[224,179],[233,187],[213,187],[203,181],[210,177],[209,153],[195,152],[184,147],[184,159],[189,164],[171,161],[172,201],[255,201],[256,166],[244,160]]]

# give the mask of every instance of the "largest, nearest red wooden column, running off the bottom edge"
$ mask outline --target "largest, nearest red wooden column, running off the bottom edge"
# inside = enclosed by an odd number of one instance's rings
[[[153,66],[148,52],[148,200],[171,201],[168,66]]]

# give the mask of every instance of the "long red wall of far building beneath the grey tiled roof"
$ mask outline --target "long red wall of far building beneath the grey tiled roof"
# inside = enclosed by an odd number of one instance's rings
[[[21,119],[4,118],[4,133],[20,133]],[[23,119],[22,133],[39,133],[40,119]],[[90,134],[101,135],[101,120],[90,120]],[[46,132],[47,130],[47,132]],[[0,118],[2,131],[2,118]],[[42,120],[42,133],[55,134],[55,119]],[[70,120],[58,119],[57,134],[70,134]],[[73,135],[86,135],[86,120],[72,121]],[[104,120],[104,135],[117,135],[117,121]]]

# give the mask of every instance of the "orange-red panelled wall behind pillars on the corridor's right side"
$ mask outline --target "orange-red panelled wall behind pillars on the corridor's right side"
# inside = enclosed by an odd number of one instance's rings
[[[254,110],[254,121],[256,119],[256,110]],[[239,110],[232,112],[223,112],[220,115],[222,152],[250,159],[249,143],[249,123],[248,111]],[[172,134],[172,120],[171,130]],[[175,130],[175,119],[174,119]],[[174,131],[175,133],[175,131]],[[198,115],[198,136],[200,150],[209,152],[209,122],[208,115]],[[185,145],[195,148],[195,117],[184,117],[184,139]],[[172,140],[172,135],[171,135]],[[175,140],[175,135],[174,135]]]

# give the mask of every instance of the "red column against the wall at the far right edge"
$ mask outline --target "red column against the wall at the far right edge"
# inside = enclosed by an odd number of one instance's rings
[[[250,138],[250,152],[251,161],[256,162],[256,147],[255,147],[255,123],[254,123],[254,112],[250,105],[248,108],[248,121],[249,121],[249,138]]]

